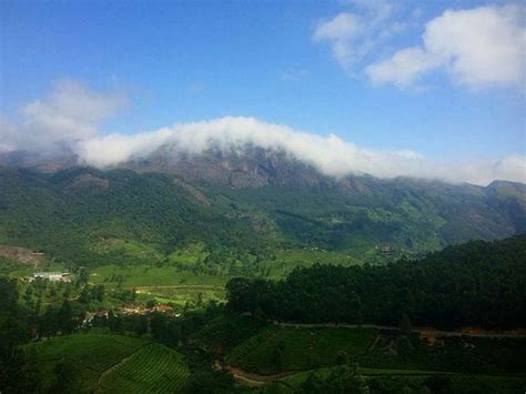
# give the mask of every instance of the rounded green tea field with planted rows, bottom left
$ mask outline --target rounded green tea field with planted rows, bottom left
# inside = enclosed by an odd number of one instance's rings
[[[189,375],[174,351],[102,330],[30,344],[24,351],[37,361],[45,392],[64,382],[79,393],[152,392],[158,385],[181,387]]]

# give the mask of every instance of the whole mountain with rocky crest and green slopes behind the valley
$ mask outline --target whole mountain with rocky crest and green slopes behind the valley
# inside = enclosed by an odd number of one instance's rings
[[[8,159],[0,169],[0,243],[83,264],[100,261],[97,244],[112,239],[160,255],[204,243],[316,247],[375,261],[526,230],[526,185],[513,182],[334,179],[261,149],[178,156],[160,150],[105,171],[74,166],[68,154]]]

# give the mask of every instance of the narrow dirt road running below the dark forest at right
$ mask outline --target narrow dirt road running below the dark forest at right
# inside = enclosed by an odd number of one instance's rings
[[[398,327],[393,327],[388,325],[377,325],[377,324],[337,324],[337,323],[284,323],[284,322],[273,322],[275,325],[281,327],[303,327],[303,329],[318,329],[318,327],[342,327],[342,329],[377,329],[377,330],[387,330],[387,331],[399,331]],[[423,334],[423,335],[434,335],[434,336],[473,336],[473,337],[525,337],[526,332],[523,330],[517,331],[483,331],[478,332],[464,332],[464,331],[444,331],[436,330],[432,327],[413,327],[413,332]]]

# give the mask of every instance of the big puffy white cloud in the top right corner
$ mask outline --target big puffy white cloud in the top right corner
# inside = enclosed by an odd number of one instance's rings
[[[446,10],[425,27],[419,47],[370,64],[374,83],[407,87],[433,70],[445,70],[469,88],[525,88],[526,11],[520,6]]]

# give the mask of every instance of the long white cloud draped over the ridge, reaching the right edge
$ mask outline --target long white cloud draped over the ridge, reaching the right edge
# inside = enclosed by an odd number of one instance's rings
[[[174,156],[200,154],[211,148],[240,153],[246,147],[280,150],[336,178],[368,173],[378,178],[415,176],[477,184],[495,179],[526,182],[526,158],[518,154],[495,162],[447,164],[432,162],[409,150],[360,148],[333,134],[322,137],[253,118],[227,117],[134,135],[92,138],[78,145],[78,153],[88,164],[109,166],[146,158],[161,147],[169,147]]]

